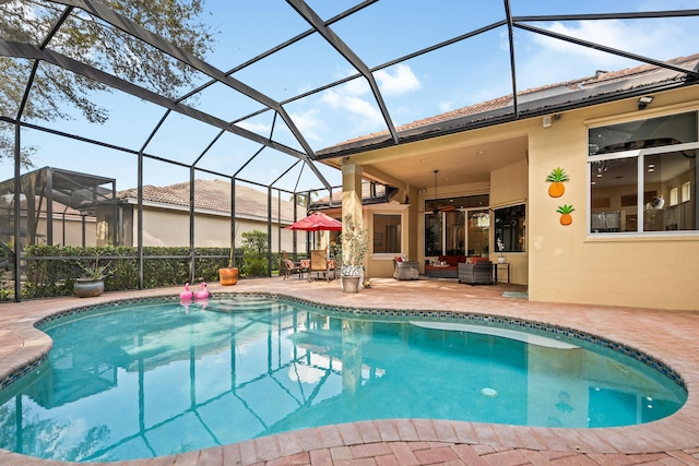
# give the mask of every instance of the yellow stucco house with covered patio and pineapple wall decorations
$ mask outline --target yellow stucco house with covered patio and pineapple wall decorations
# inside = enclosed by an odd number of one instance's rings
[[[698,310],[699,55],[672,63],[695,73],[599,72],[518,95],[531,118],[508,120],[508,96],[404,126],[408,144],[372,134],[320,152],[343,174],[333,216],[363,218],[374,239],[365,276],[391,276],[395,255],[423,274],[447,255],[497,263],[499,240],[532,301]],[[569,109],[547,113],[554,101]],[[363,179],[398,193],[363,204]]]

